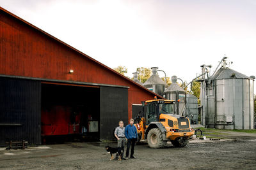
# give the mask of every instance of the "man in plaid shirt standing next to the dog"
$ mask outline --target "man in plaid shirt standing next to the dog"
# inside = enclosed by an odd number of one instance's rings
[[[124,134],[124,131],[125,131],[124,122],[120,121],[119,122],[119,127],[116,127],[116,130],[115,130],[115,137],[117,139],[118,151],[121,151],[121,149],[123,151],[122,155],[121,155],[122,156],[121,159],[124,159],[124,157],[123,157],[123,155],[124,155],[124,145],[125,145],[125,134]]]

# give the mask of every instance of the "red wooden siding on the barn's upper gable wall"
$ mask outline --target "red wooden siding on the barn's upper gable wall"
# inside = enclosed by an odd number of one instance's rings
[[[0,74],[128,86],[129,118],[132,103],[156,96],[3,8],[0,36]]]

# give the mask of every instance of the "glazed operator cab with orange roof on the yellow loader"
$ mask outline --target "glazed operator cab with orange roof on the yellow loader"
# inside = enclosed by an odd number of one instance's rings
[[[145,101],[143,104],[145,107],[145,123],[150,124],[151,122],[159,122],[160,114],[175,114],[174,113],[175,101],[170,100],[151,100]]]

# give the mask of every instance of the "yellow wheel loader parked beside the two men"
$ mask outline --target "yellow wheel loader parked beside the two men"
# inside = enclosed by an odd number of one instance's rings
[[[147,139],[150,148],[163,148],[167,141],[173,146],[183,147],[195,134],[189,119],[175,114],[175,101],[154,99],[143,101],[143,115],[135,118],[138,141]]]

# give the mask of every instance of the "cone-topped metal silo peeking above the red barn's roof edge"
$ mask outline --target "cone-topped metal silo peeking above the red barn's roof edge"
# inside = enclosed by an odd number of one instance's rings
[[[152,90],[156,94],[163,96],[166,83],[164,83],[164,81],[157,75],[158,67],[152,67],[151,69],[153,74],[150,76],[150,78],[148,78],[147,81],[145,81],[143,85],[148,90]]]

